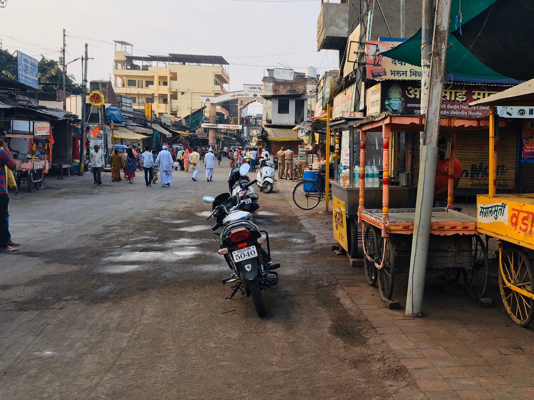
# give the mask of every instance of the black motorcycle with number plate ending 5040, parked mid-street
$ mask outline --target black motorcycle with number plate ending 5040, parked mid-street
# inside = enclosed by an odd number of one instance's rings
[[[243,171],[245,170],[246,167]],[[244,184],[243,189],[254,183],[255,180]],[[203,200],[212,203],[213,212],[208,219],[213,217],[215,225],[211,229],[215,231],[223,228],[219,234],[219,254],[224,256],[232,270],[231,276],[223,279],[223,284],[235,282],[230,298],[238,291],[241,291],[242,295],[252,297],[258,317],[264,317],[266,310],[262,290],[278,283],[278,274],[274,270],[280,267],[280,264],[273,264],[271,261],[269,233],[254,224],[250,212],[242,210],[245,203],[239,193],[234,196],[224,193],[216,198],[205,196]],[[266,243],[266,251],[262,248],[263,243]]]

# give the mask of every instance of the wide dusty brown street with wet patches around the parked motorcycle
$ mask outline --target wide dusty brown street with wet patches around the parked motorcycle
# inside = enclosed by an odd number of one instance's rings
[[[23,244],[0,255],[0,398],[426,398],[341,288],[354,270],[277,189],[255,216],[282,265],[268,316],[225,299],[201,202],[226,189],[215,171],[174,172],[170,188],[85,175],[12,198]]]

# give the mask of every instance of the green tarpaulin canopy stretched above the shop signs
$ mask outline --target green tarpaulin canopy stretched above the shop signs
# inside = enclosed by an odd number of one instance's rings
[[[447,49],[445,61],[445,73],[451,75],[466,76],[478,79],[506,79],[508,76],[501,75],[481,63],[467,48],[464,47],[450,32],[456,29],[455,20],[461,12],[462,24],[484,11],[497,0],[452,0],[451,19],[449,22],[449,40],[452,44]],[[461,8],[460,8],[461,5]],[[386,57],[404,61],[412,65],[421,65],[421,29],[406,42],[396,48],[382,53]]]

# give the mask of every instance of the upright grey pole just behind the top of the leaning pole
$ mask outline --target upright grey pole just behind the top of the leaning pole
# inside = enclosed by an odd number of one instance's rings
[[[430,48],[434,31],[435,0],[423,0],[421,28],[421,114],[427,113],[428,82],[430,77]]]

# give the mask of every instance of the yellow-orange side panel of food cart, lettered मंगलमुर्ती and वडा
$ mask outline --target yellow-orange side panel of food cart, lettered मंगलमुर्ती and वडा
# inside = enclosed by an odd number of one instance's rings
[[[534,197],[477,196],[478,232],[534,249]]]

